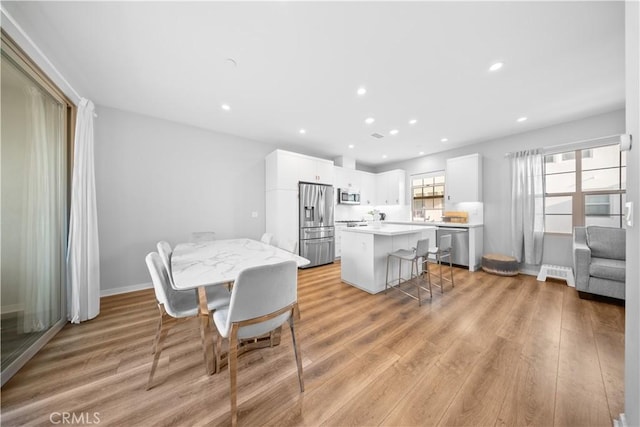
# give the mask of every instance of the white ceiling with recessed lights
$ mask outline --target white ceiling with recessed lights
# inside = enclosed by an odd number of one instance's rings
[[[624,2],[3,7],[98,105],[370,166],[624,106]]]

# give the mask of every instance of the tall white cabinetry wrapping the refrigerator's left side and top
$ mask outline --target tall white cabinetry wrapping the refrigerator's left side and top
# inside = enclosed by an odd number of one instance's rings
[[[298,241],[298,183],[333,185],[331,160],[276,150],[265,158],[266,232],[275,243]]]

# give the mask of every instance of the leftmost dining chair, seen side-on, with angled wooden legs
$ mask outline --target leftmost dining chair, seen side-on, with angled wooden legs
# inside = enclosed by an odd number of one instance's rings
[[[170,320],[186,319],[191,317],[197,318],[199,306],[198,296],[195,291],[177,291],[171,287],[169,274],[164,261],[157,252],[149,253],[145,258],[145,262],[149,269],[149,274],[151,275],[153,290],[156,294],[158,310],[160,312],[156,335],[151,347],[153,362],[151,364],[151,372],[149,373],[149,380],[147,382],[147,390],[149,390],[152,387],[153,375],[155,374],[158,366],[158,360],[162,353],[162,344],[174,323],[170,322]],[[211,293],[209,292],[209,289],[207,289],[207,306],[210,311],[215,312],[215,310],[229,305],[231,294],[225,286],[211,286],[210,288],[212,290]],[[213,292],[214,290],[215,292]],[[205,358],[205,368],[207,368],[206,348],[203,347],[202,350]]]

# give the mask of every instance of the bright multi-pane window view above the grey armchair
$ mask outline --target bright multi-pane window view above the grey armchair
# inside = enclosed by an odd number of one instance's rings
[[[618,145],[545,156],[545,232],[624,228],[626,155]]]

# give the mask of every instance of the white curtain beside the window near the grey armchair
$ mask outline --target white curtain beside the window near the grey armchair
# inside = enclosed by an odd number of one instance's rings
[[[511,239],[518,262],[542,262],[544,156],[540,150],[511,154]]]

